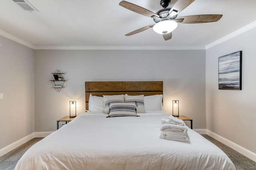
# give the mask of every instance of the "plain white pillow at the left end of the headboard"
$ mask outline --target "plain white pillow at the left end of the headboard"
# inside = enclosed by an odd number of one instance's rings
[[[92,96],[90,94],[89,97],[89,111],[96,111],[96,112],[104,112],[104,99],[100,96]]]

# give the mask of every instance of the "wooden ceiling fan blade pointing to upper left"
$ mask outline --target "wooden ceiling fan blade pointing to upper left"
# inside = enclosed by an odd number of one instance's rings
[[[160,16],[158,14],[155,14],[154,12],[151,12],[150,10],[147,10],[145,8],[142,8],[138,5],[135,5],[135,4],[132,4],[130,2],[127,2],[127,1],[121,1],[119,3],[120,6],[128,9],[128,10],[131,10],[133,12],[136,12],[138,14],[141,14],[141,15],[144,15],[144,16],[147,16],[147,17],[153,17],[153,16],[156,16],[158,18],[160,18]]]

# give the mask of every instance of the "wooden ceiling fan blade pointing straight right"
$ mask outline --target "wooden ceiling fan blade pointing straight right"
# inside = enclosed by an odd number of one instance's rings
[[[178,17],[176,18],[176,20],[183,19],[183,21],[180,23],[207,23],[207,22],[216,22],[220,20],[220,18],[222,18],[222,15],[220,14],[205,14],[205,15]]]

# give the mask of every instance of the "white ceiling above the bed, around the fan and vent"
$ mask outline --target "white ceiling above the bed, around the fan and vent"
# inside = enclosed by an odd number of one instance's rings
[[[153,29],[125,36],[154,23],[122,6],[120,0],[28,0],[39,12],[27,12],[12,0],[0,0],[0,30],[40,46],[205,47],[256,21],[256,0],[195,0],[178,14],[223,14],[218,22],[182,24],[164,41]],[[152,12],[160,0],[127,0]],[[169,8],[176,0],[171,0]]]

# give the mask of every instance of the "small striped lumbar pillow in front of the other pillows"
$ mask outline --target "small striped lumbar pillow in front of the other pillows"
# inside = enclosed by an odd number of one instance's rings
[[[108,117],[138,116],[135,103],[112,103],[109,106]]]

